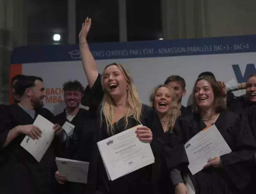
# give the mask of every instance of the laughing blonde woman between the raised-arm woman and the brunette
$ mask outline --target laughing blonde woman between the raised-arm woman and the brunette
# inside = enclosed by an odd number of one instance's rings
[[[160,180],[162,187],[160,188],[163,190],[161,193],[171,194],[175,190],[176,194],[186,194],[187,187],[183,182],[181,170],[186,169],[188,159],[184,145],[177,145],[177,139],[172,135],[175,121],[180,116],[180,110],[173,89],[168,85],[157,86],[151,93],[150,105],[155,109],[161,120],[165,132],[165,142],[167,143],[162,154],[166,158],[165,161],[167,163],[162,160],[162,176]],[[170,182],[173,183],[173,187]]]

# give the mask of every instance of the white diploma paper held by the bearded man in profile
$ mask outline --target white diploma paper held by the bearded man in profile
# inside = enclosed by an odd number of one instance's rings
[[[49,120],[42,117],[41,115],[37,115],[37,118],[34,121],[33,125],[41,129],[41,137],[39,137],[39,139],[33,140],[30,137],[26,136],[21,142],[20,146],[22,146],[38,162],[40,162],[45,152],[51,145],[52,140],[54,139],[54,130],[52,129],[54,124],[52,124],[52,122],[49,122]]]

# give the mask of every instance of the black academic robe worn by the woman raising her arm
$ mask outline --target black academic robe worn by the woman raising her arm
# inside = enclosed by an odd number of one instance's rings
[[[95,194],[101,192],[103,194],[153,194],[160,193],[158,190],[157,182],[160,178],[160,152],[161,142],[164,136],[161,122],[155,111],[147,105],[142,106],[141,124],[151,129],[153,133],[153,141],[150,144],[155,156],[155,163],[148,165],[144,168],[129,173],[114,181],[109,181],[106,170],[103,165],[100,153],[98,151],[96,142],[109,137],[106,130],[106,122],[103,120],[102,125],[100,120],[100,104],[104,92],[101,87],[101,75],[98,75],[94,86],[87,88],[84,93],[83,105],[88,107],[98,107],[94,117],[94,122],[90,127],[94,127],[95,139],[92,150],[92,159],[89,167],[88,183],[86,186],[86,193]],[[132,117],[128,118],[128,126],[125,126],[124,119],[122,118],[114,124],[116,133],[122,132],[130,127],[134,127],[139,123]],[[93,125],[93,126],[92,126]],[[86,149],[86,148],[84,148]],[[82,153],[83,151],[81,151]]]

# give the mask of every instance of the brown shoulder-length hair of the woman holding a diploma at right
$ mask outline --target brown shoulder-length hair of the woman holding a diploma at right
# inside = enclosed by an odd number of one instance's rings
[[[194,98],[197,82],[200,80],[206,80],[209,82],[209,84],[212,86],[212,91],[214,94],[214,101],[213,101],[213,108],[216,113],[221,113],[223,110],[226,109],[226,103],[224,102],[224,96],[222,94],[222,87],[219,85],[219,83],[212,77],[212,76],[203,76],[199,77],[197,81],[194,84],[193,88],[193,112],[194,113],[199,113],[200,109],[197,106],[197,103]]]

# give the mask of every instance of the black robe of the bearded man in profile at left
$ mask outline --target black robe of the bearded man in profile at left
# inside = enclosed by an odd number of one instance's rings
[[[54,115],[47,109],[36,111],[54,123]],[[35,118],[36,118],[35,116]],[[5,107],[5,120],[0,120],[0,137],[7,138],[7,132],[18,125],[32,125],[34,119],[19,105]],[[54,194],[57,170],[52,146],[38,163],[30,153],[20,146],[25,134],[18,135],[7,147],[2,149],[0,165],[1,194]]]

